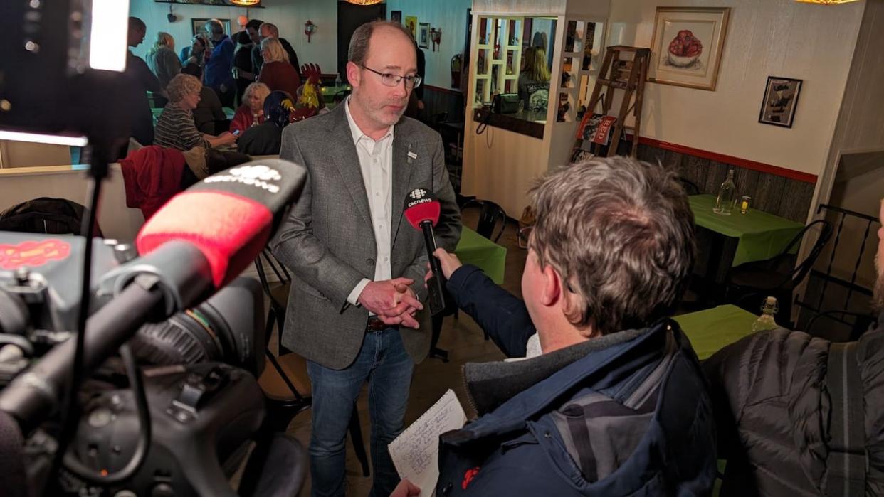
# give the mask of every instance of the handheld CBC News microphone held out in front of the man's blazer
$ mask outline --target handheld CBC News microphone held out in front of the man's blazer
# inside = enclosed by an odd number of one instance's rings
[[[430,313],[436,315],[445,310],[445,275],[438,259],[433,255],[436,252],[436,237],[433,226],[439,220],[439,212],[442,207],[433,192],[425,188],[415,188],[408,192],[405,199],[403,214],[408,222],[417,230],[423,231],[423,242],[427,246],[427,256],[430,258],[430,270],[432,276],[427,280],[427,292],[430,300]]]

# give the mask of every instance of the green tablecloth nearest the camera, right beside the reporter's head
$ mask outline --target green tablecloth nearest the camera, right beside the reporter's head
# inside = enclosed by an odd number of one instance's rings
[[[719,305],[697,313],[674,316],[673,319],[688,335],[697,358],[710,358],[724,346],[752,334],[752,325],[758,316],[736,305]]]

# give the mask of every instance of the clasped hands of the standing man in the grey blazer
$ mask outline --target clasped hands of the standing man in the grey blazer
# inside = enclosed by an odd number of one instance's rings
[[[415,313],[423,309],[423,304],[408,286],[414,282],[410,278],[369,282],[359,294],[359,303],[385,324],[420,328]]]

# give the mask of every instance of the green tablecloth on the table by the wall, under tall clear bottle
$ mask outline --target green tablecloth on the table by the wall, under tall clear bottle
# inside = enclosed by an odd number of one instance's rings
[[[800,222],[789,221],[751,207],[744,215],[740,214],[739,209],[732,215],[717,215],[713,213],[713,195],[691,195],[688,200],[697,226],[725,237],[739,239],[731,267],[770,259],[780,254],[789,245],[789,241],[804,228]]]

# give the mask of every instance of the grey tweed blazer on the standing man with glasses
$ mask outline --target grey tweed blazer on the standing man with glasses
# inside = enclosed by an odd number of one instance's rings
[[[306,166],[308,179],[271,241],[273,253],[293,272],[283,344],[332,369],[352,364],[362,347],[369,313],[347,304],[347,296],[363,277],[374,279],[377,254],[344,105],[286,126],[279,157]],[[423,234],[402,215],[406,196],[415,188],[436,193],[442,204],[436,243],[453,252],[461,237],[461,214],[448,179],[442,140],[426,125],[402,117],[392,143],[392,276],[415,280],[412,288],[425,302]],[[429,313],[418,313],[417,320],[420,329],[400,328],[415,363],[427,356],[431,338]]]

